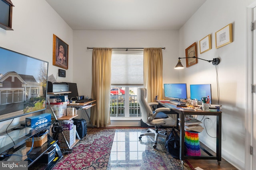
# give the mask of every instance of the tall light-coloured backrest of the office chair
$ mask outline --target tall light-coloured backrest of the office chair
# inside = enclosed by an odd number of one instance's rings
[[[138,93],[137,93],[137,100],[138,103],[140,104],[140,111],[142,114],[142,121],[144,123],[149,123],[148,122],[148,117],[153,115],[153,111],[151,107],[149,106],[148,102],[146,101],[147,97],[147,89],[146,88],[138,88]]]

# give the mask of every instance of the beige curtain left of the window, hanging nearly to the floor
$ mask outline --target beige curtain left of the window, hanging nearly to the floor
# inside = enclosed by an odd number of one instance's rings
[[[92,124],[110,125],[111,48],[94,48],[92,51],[92,98],[96,106],[91,109]]]

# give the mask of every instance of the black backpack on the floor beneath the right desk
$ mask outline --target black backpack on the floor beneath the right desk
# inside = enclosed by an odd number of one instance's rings
[[[180,132],[176,131],[174,128],[171,131],[168,131],[165,147],[172,155],[173,158],[180,158]]]

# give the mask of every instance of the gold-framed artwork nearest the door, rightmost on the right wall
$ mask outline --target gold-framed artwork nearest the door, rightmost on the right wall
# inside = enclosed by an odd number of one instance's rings
[[[232,43],[232,23],[228,24],[215,33],[216,49],[229,43]]]

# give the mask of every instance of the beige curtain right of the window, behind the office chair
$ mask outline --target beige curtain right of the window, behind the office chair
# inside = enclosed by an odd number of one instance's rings
[[[147,89],[147,102],[155,97],[162,99],[163,59],[162,48],[144,48],[144,87]]]

